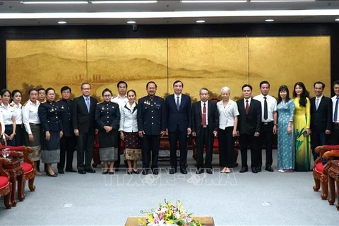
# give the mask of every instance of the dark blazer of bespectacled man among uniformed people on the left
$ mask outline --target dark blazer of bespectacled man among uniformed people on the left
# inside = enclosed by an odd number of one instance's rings
[[[79,133],[94,132],[95,124],[95,107],[97,99],[90,97],[90,112],[88,113],[87,106],[83,96],[76,97],[73,100],[73,129],[78,129]]]

